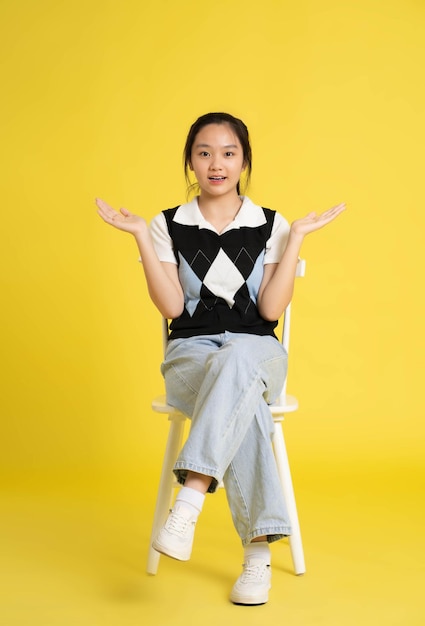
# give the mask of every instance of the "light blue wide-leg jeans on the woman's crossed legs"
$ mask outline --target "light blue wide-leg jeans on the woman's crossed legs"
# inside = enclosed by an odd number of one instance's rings
[[[274,337],[224,332],[170,341],[161,371],[167,401],[191,418],[174,472],[223,481],[233,523],[247,545],[291,534],[271,446],[268,404],[279,395],[287,355]]]

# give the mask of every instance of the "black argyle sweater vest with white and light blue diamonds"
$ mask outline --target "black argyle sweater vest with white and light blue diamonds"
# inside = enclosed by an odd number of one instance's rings
[[[263,319],[256,303],[275,211],[263,208],[261,226],[218,234],[173,221],[177,209],[163,211],[185,294],[185,308],[171,322],[170,339],[226,330],[274,336],[277,321]]]

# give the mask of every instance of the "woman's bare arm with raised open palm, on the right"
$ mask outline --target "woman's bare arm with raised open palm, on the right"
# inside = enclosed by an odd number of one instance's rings
[[[309,213],[291,224],[288,243],[281,260],[279,263],[264,266],[257,298],[261,317],[268,321],[280,318],[294,292],[295,273],[304,237],[332,222],[344,209],[345,203],[338,204],[320,215]]]

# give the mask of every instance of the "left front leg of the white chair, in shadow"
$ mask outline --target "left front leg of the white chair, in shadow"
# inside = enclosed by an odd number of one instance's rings
[[[160,557],[159,552],[153,549],[152,542],[164,523],[170,508],[174,484],[173,466],[181,448],[184,422],[186,420],[185,416],[181,413],[170,415],[168,419],[171,421],[170,431],[168,433],[167,446],[165,448],[161,478],[159,480],[158,495],[156,499],[151,539],[149,543],[148,564],[146,568],[147,573],[152,575],[155,575],[158,571]]]

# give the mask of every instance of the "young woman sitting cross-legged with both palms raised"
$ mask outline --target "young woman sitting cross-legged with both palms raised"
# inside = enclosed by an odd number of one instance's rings
[[[230,600],[263,604],[271,587],[269,544],[291,533],[271,447],[268,405],[287,361],[274,328],[292,297],[304,237],[345,205],[289,226],[240,195],[251,147],[245,124],[227,113],[196,120],[184,162],[198,195],[163,211],[150,228],[96,201],[105,222],[135,237],[150,297],[172,320],[162,364],[167,401],[191,418],[174,468],[183,486],[153,547],[188,560],[205,494],[223,481],[244,547]]]

